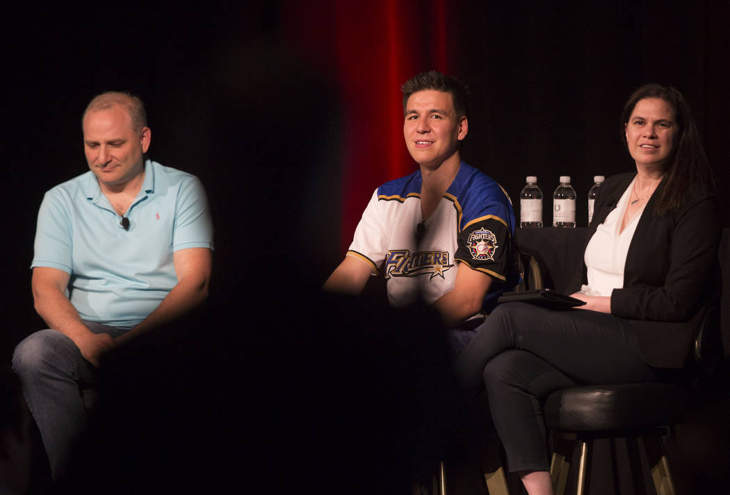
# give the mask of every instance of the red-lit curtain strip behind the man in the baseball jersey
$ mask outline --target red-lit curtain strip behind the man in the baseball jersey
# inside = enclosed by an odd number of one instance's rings
[[[415,170],[403,140],[400,86],[448,73],[453,39],[445,0],[320,0],[283,6],[286,38],[337,79],[342,107],[342,254],[375,187]],[[334,207],[334,206],[333,206]]]

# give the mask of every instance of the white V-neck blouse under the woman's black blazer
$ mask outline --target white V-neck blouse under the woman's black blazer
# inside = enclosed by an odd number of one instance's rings
[[[636,178],[634,177],[634,181]],[[634,215],[623,232],[621,230],[621,219],[626,212],[626,206],[631,199],[631,189],[634,187],[631,181],[629,187],[623,192],[621,200],[616,207],[608,214],[604,222],[596,228],[596,233],[591,237],[588,246],[585,248],[585,267],[588,269],[588,286],[583,286],[580,292],[588,295],[610,296],[613,289],[623,287],[623,268],[626,265],[626,254],[629,252],[631,238],[639,223],[639,218],[644,211],[646,203]]]

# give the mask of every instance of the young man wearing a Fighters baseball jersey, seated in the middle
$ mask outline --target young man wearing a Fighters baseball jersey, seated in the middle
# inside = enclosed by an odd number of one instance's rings
[[[375,190],[345,260],[323,288],[359,295],[382,269],[391,305],[421,299],[447,328],[472,328],[490,294],[518,280],[512,204],[499,184],[461,161],[466,87],[430,71],[401,90],[403,134],[419,168]],[[468,342],[457,340],[459,347]]]

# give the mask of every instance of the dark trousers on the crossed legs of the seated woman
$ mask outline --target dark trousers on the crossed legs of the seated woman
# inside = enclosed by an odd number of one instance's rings
[[[629,321],[607,313],[499,305],[456,361],[466,391],[486,387],[510,471],[549,469],[542,400],[569,386],[657,381]]]

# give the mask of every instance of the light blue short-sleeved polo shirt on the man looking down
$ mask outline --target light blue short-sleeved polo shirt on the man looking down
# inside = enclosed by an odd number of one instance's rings
[[[31,268],[69,273],[82,319],[131,328],[177,284],[172,253],[213,249],[210,208],[196,176],[145,161],[145,181],[128,208],[129,230],[91,171],[46,192]]]

